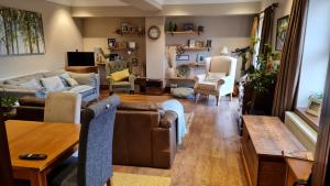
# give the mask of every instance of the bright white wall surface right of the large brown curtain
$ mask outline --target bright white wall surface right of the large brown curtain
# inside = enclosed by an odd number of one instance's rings
[[[309,1],[298,107],[307,107],[311,94],[323,94],[330,51],[330,1]]]

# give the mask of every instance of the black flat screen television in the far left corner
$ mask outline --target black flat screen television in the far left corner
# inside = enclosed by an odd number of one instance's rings
[[[67,52],[67,66],[95,66],[92,52]]]

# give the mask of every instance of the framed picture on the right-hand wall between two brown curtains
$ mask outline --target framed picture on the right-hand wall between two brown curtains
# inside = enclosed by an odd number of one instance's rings
[[[275,43],[275,50],[282,51],[284,42],[285,42],[285,35],[288,28],[288,21],[289,15],[279,18],[277,20],[277,28],[276,28],[276,43]]]

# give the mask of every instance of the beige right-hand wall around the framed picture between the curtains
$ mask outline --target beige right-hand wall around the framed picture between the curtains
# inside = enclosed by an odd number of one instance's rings
[[[293,0],[264,0],[261,2],[261,11],[265,10],[268,6],[278,2],[278,7],[275,10],[274,24],[273,24],[273,47],[275,47],[276,42],[276,28],[277,19],[290,14]]]

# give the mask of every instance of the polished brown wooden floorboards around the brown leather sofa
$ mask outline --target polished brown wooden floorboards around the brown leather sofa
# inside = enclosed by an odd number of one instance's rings
[[[158,102],[169,96],[119,95],[124,101]],[[248,186],[235,122],[238,100],[179,100],[194,120],[170,169],[114,166],[116,172],[170,176],[172,186]]]

